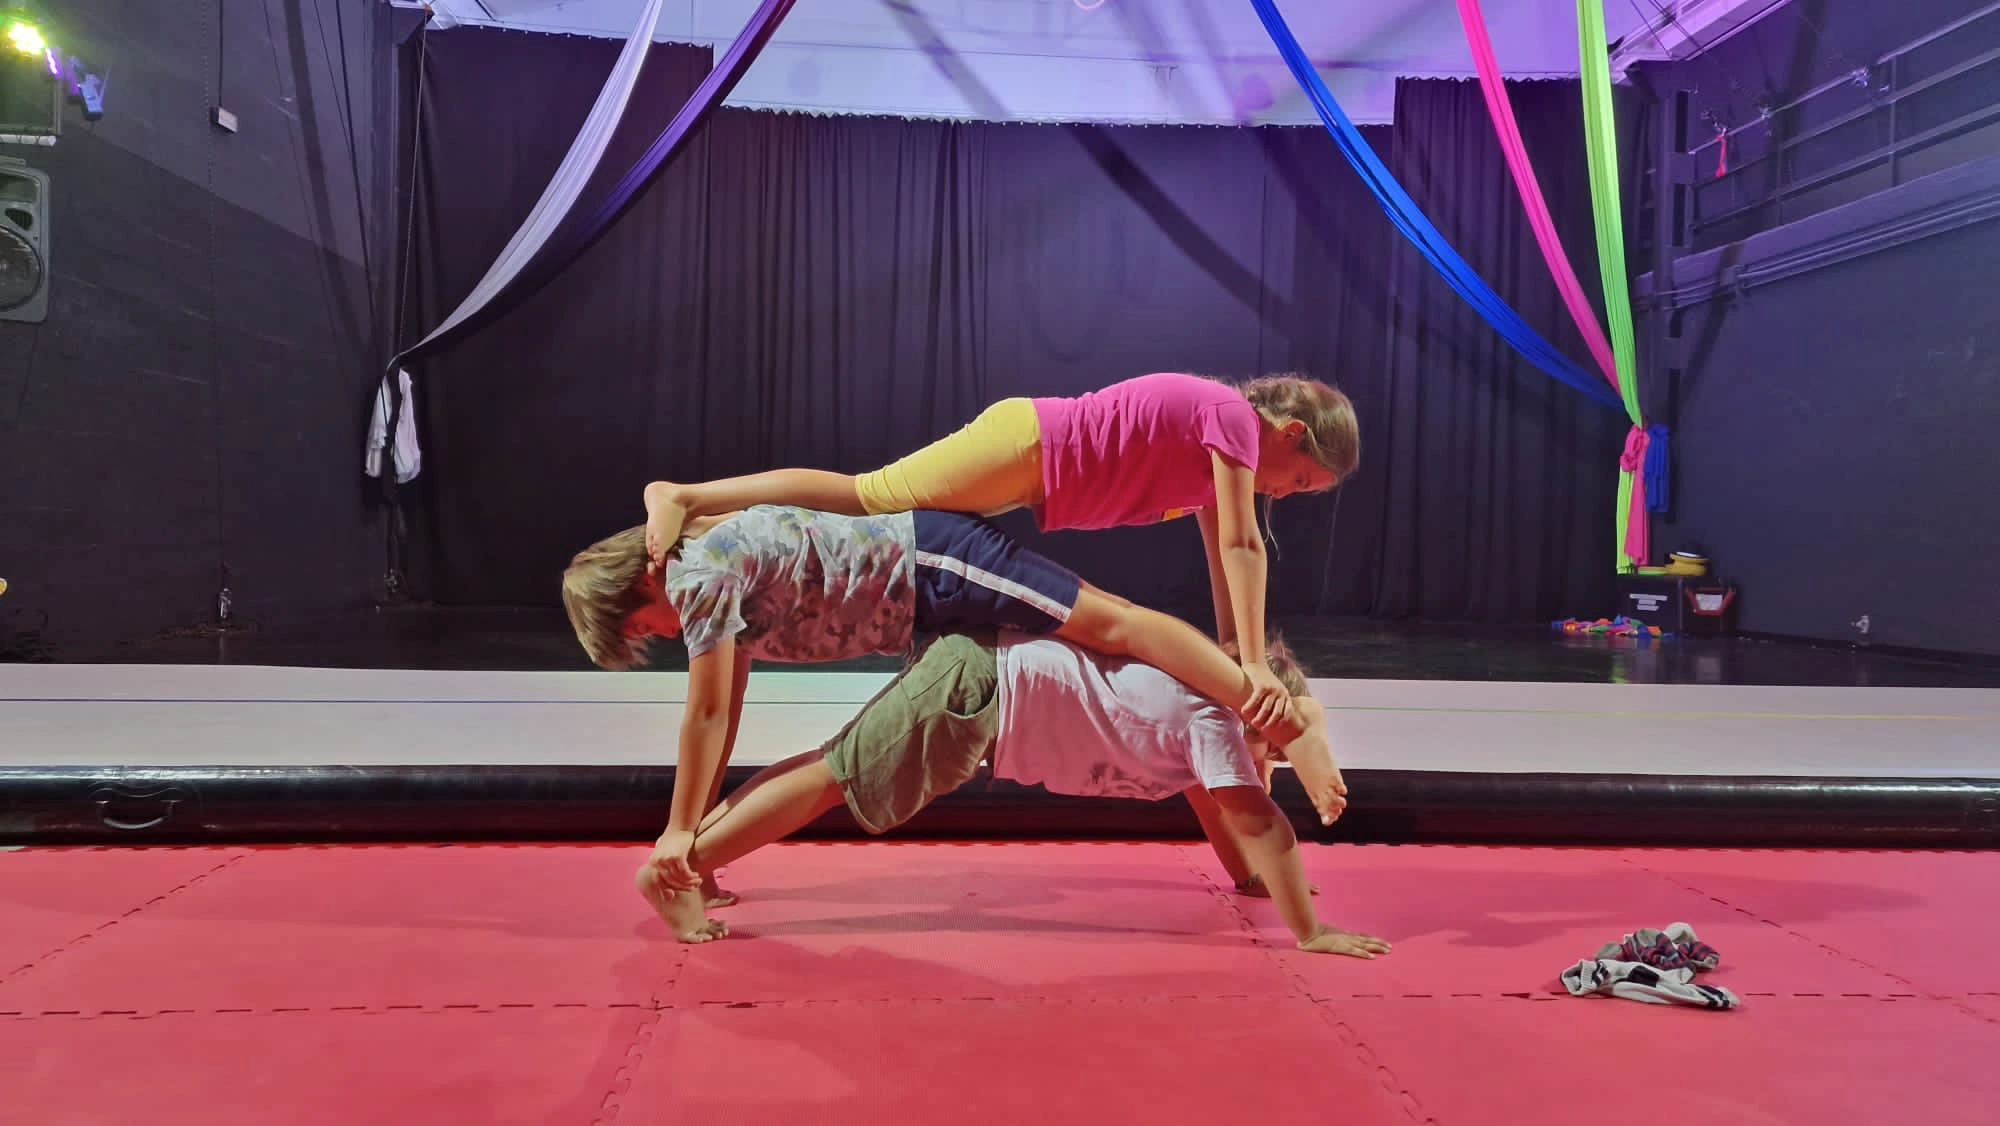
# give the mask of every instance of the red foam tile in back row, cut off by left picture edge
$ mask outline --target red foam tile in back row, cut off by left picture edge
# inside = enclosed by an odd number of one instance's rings
[[[236,848],[24,848],[0,852],[0,982],[132,912],[158,906]],[[0,1010],[6,1010],[0,984]]]

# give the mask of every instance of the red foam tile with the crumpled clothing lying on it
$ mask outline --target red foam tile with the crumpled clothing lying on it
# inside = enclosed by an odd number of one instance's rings
[[[1300,954],[1280,962],[1312,996],[1564,994],[1560,974],[1606,942],[1688,922],[1722,954],[1704,982],[1738,994],[1896,994],[1910,988],[1812,942],[1646,872],[1618,850],[1306,848],[1320,918],[1386,938],[1372,960]],[[1236,900],[1276,926],[1268,900]],[[1564,994],[1568,996],[1568,994]]]

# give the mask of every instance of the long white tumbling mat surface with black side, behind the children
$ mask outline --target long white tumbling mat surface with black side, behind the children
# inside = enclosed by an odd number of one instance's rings
[[[886,672],[760,670],[732,758],[840,730]],[[0,666],[0,766],[672,764],[680,672]],[[1314,680],[1350,770],[2000,778],[1996,688]]]

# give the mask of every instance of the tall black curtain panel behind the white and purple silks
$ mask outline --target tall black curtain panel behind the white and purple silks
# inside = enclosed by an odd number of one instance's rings
[[[568,154],[622,42],[490,28],[406,42],[404,176],[410,208],[398,348],[422,340],[478,284]],[[710,48],[654,44],[626,116],[578,208],[594,208],[674,118]],[[424,472],[402,490],[404,566],[448,604],[554,600],[548,576],[604,534],[592,494],[630,492],[658,434],[652,396],[684,356],[684,268],[700,254],[704,138],[542,292],[412,364]],[[408,160],[408,156],[406,156]],[[684,336],[682,332],[680,336]],[[614,486],[616,482],[616,486]]]

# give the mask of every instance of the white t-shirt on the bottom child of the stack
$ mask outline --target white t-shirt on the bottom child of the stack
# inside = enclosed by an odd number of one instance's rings
[[[996,778],[1084,798],[1264,786],[1236,712],[1150,664],[1014,632],[992,760]]]

